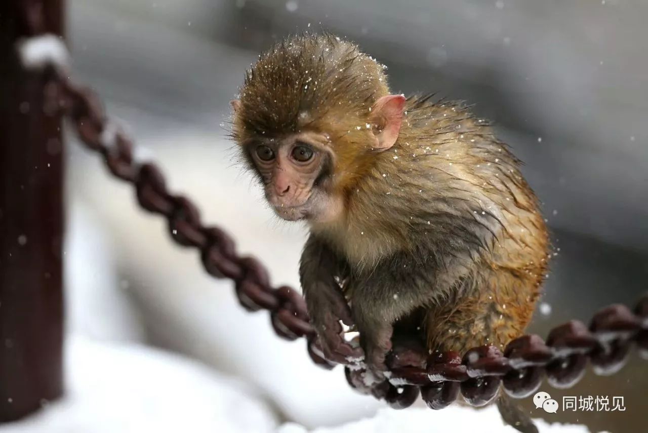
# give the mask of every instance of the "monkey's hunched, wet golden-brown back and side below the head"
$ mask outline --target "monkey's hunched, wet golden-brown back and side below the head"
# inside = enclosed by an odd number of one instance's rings
[[[314,231],[360,274],[411,253],[421,284],[410,286],[435,293],[431,348],[505,344],[531,319],[548,261],[546,226],[519,166],[466,108],[411,97],[396,145],[348,192],[345,218]]]

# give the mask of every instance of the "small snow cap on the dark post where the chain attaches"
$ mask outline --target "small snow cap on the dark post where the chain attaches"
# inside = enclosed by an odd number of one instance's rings
[[[40,69],[47,64],[65,69],[69,64],[67,47],[55,34],[26,38],[18,42],[17,49],[21,62],[29,69]]]

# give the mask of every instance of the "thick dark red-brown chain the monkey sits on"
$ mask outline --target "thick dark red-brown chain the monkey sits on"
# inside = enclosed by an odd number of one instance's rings
[[[62,110],[87,148],[103,156],[113,176],[133,185],[141,207],[167,219],[172,239],[200,250],[207,273],[233,280],[245,309],[268,310],[275,333],[286,340],[307,338],[310,358],[319,366],[333,368],[335,363],[323,356],[301,294],[286,286],[273,288],[268,271],[257,259],[238,255],[225,231],[205,226],[191,200],[167,190],[155,164],[136,162],[132,141],[108,122],[93,91],[77,86],[53,65],[46,73],[51,79],[45,87],[49,100],[45,109]],[[345,366],[345,375],[353,388],[384,399],[394,408],[410,406],[421,394],[430,408],[441,409],[460,392],[468,403],[483,406],[494,399],[500,385],[515,398],[535,392],[544,376],[552,386],[568,388],[583,377],[588,360],[599,375],[616,373],[633,344],[648,359],[648,296],[634,312],[624,305],[611,305],[599,311],[589,327],[572,320],[553,329],[546,342],[535,334],[522,336],[503,353],[485,345],[470,349],[463,357],[453,351],[428,355],[424,347],[411,342],[394,342],[388,357],[389,380],[372,382],[362,363]]]

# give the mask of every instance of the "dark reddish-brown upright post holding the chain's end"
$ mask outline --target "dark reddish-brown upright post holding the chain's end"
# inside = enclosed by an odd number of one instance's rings
[[[25,14],[30,10],[30,14]],[[63,34],[64,0],[0,1],[0,423],[62,394],[63,141],[16,40]]]

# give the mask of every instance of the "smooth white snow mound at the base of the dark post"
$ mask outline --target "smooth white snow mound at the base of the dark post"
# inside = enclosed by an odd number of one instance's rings
[[[1,433],[271,432],[277,419],[250,386],[141,345],[75,337],[67,393]]]

